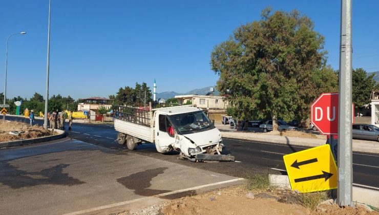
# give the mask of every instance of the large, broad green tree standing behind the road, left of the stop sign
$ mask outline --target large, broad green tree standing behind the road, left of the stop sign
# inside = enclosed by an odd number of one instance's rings
[[[325,68],[324,37],[313,27],[296,10],[266,8],[261,20],[238,27],[215,46],[210,63],[220,75],[217,88],[233,104],[236,117],[277,122],[309,116],[323,71],[333,74]]]

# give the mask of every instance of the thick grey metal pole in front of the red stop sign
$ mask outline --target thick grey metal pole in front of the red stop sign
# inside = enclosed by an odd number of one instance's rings
[[[351,2],[341,0],[337,194],[337,204],[340,206],[353,206]]]

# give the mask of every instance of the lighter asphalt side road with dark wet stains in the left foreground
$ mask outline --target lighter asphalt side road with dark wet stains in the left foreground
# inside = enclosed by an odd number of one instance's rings
[[[64,138],[0,149],[0,214],[110,214],[239,181]]]

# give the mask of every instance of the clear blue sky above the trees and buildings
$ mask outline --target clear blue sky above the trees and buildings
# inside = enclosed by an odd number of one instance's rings
[[[116,94],[146,82],[157,92],[185,93],[215,85],[213,48],[261,11],[297,9],[325,37],[328,64],[339,69],[341,1],[52,0],[49,96]],[[353,1],[353,68],[379,71],[379,1]],[[45,97],[48,0],[0,0],[0,92]]]

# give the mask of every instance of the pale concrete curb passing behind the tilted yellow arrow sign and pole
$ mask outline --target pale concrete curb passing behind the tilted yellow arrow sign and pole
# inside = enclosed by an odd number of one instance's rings
[[[283,175],[269,175],[270,184],[291,189],[291,185],[289,184],[288,176]],[[379,191],[365,189],[361,187],[353,186],[353,202],[364,203],[368,205],[372,205],[374,207],[379,207]]]

